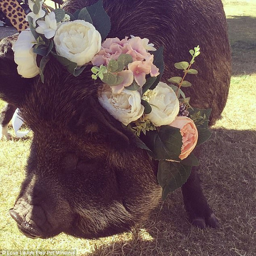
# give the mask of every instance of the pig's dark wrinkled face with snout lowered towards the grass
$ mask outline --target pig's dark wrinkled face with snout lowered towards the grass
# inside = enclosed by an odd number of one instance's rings
[[[35,83],[22,105],[34,137],[10,214],[30,238],[119,233],[160,199],[147,154],[115,130],[118,122],[108,127],[95,95],[92,81],[65,74]]]

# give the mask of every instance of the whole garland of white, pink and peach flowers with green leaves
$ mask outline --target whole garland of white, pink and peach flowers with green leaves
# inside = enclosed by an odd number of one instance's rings
[[[211,110],[192,108],[181,87],[200,48],[189,50],[190,62],[175,63],[183,77],[160,81],[164,70],[163,47],[155,49],[147,38],[131,36],[107,38],[110,18],[102,0],[76,11],[63,9],[48,12],[43,0],[29,0],[32,10],[27,15],[29,29],[22,31],[13,47],[18,73],[26,78],[40,74],[52,55],[74,76],[86,65],[92,79],[100,79],[100,104],[136,136],[137,146],[159,161],[157,180],[163,188],[162,198],[182,186],[192,166],[199,162],[192,150],[206,141],[211,133],[208,118]],[[41,55],[40,66],[36,57]],[[24,57],[26,56],[26,57]]]

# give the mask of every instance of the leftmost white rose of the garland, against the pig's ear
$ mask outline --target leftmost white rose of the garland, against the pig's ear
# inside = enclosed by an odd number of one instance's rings
[[[12,47],[14,51],[14,61],[18,65],[18,73],[25,78],[32,78],[39,74],[36,64],[36,54],[33,52],[35,38],[30,30],[24,30],[18,36]]]

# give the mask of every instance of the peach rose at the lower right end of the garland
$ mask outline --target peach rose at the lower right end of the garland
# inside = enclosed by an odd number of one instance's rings
[[[179,158],[183,160],[188,157],[195,148],[198,141],[198,130],[193,120],[186,116],[177,116],[169,125],[180,129],[183,145]]]

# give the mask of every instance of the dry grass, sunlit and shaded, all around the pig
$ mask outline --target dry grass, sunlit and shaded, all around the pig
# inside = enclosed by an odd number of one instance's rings
[[[221,227],[191,227],[178,189],[154,210],[147,222],[129,233],[98,240],[65,234],[45,240],[28,239],[17,230],[8,209],[13,206],[24,177],[30,134],[26,139],[0,142],[0,249],[76,249],[79,255],[88,256],[255,256],[255,2],[224,1],[234,76],[223,118],[204,145],[200,169],[205,194]],[[239,15],[251,17],[231,17]]]

